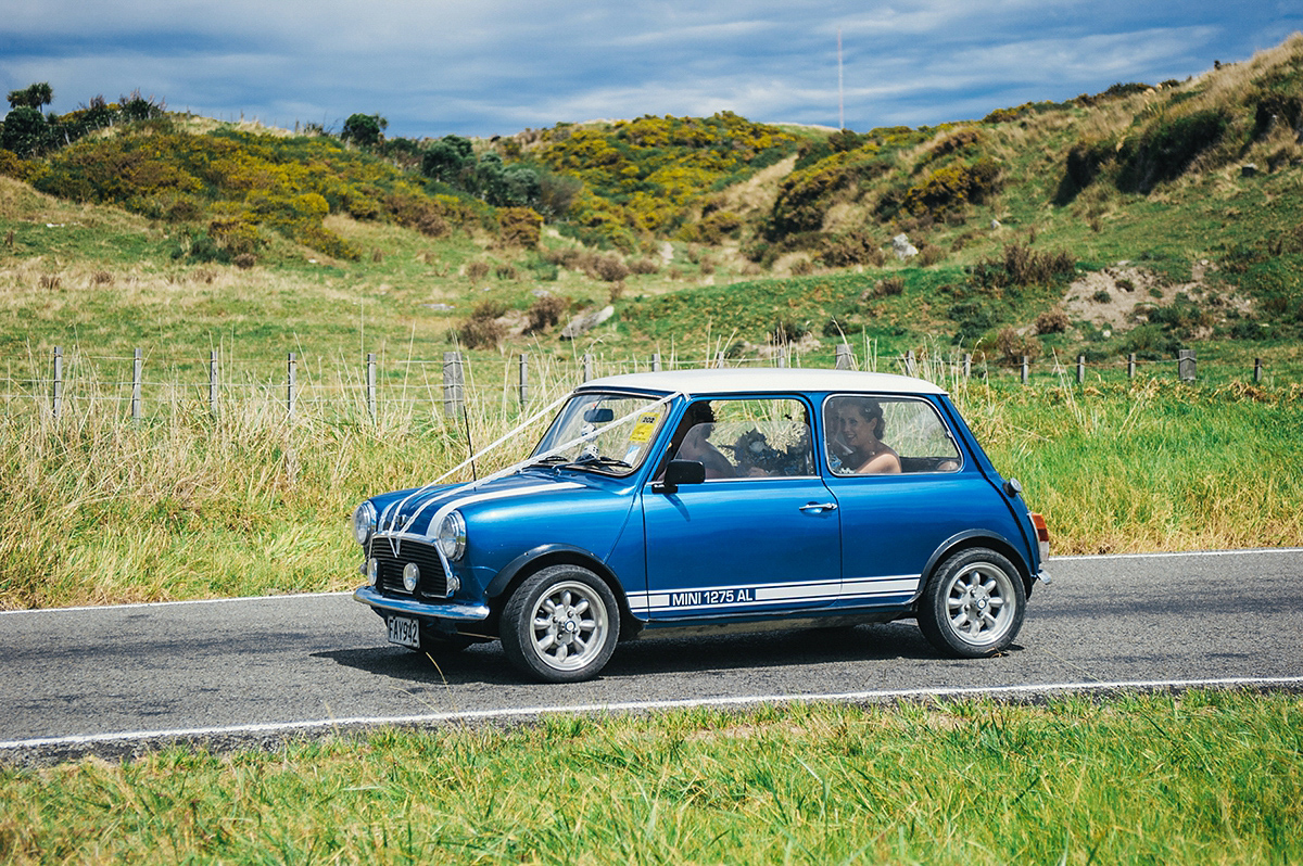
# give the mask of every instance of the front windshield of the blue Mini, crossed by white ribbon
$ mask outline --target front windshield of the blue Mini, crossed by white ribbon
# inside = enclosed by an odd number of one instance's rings
[[[534,454],[547,454],[567,445],[545,457],[545,462],[628,475],[642,464],[670,412],[667,404],[655,404],[655,397],[576,395],[556,415]]]

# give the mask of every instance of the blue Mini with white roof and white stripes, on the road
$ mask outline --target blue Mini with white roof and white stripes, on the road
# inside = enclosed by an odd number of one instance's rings
[[[1001,652],[1049,534],[945,391],[848,370],[588,382],[525,461],[353,514],[388,639],[502,641],[523,672],[595,676],[620,639],[915,619]]]

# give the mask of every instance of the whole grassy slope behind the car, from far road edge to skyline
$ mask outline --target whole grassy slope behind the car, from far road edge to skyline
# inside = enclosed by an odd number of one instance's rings
[[[601,374],[913,352],[1057,552],[1296,544],[1300,69],[1295,38],[1187,82],[864,134],[719,115],[360,148],[141,109],[0,152],[0,606],[345,587],[352,505],[509,430],[520,352],[539,401],[581,354]],[[439,409],[455,346],[468,426]],[[1174,383],[1182,346],[1197,388]],[[938,363],[958,352],[985,383]],[[1084,388],[1057,366],[1079,353]]]

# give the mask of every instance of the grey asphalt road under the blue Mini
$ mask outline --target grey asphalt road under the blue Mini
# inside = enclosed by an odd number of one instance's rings
[[[1303,550],[1057,559],[1049,570],[1054,585],[1037,587],[1014,651],[997,659],[939,659],[895,622],[631,642],[601,678],[563,686],[521,681],[496,643],[437,668],[386,643],[380,619],[348,595],[0,613],[0,759],[151,732],[268,736],[631,703],[1240,677],[1303,689]]]

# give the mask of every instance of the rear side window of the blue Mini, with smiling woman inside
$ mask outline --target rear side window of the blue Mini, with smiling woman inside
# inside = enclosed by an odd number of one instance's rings
[[[835,475],[959,471],[955,440],[932,404],[846,395],[823,402],[823,445]]]

